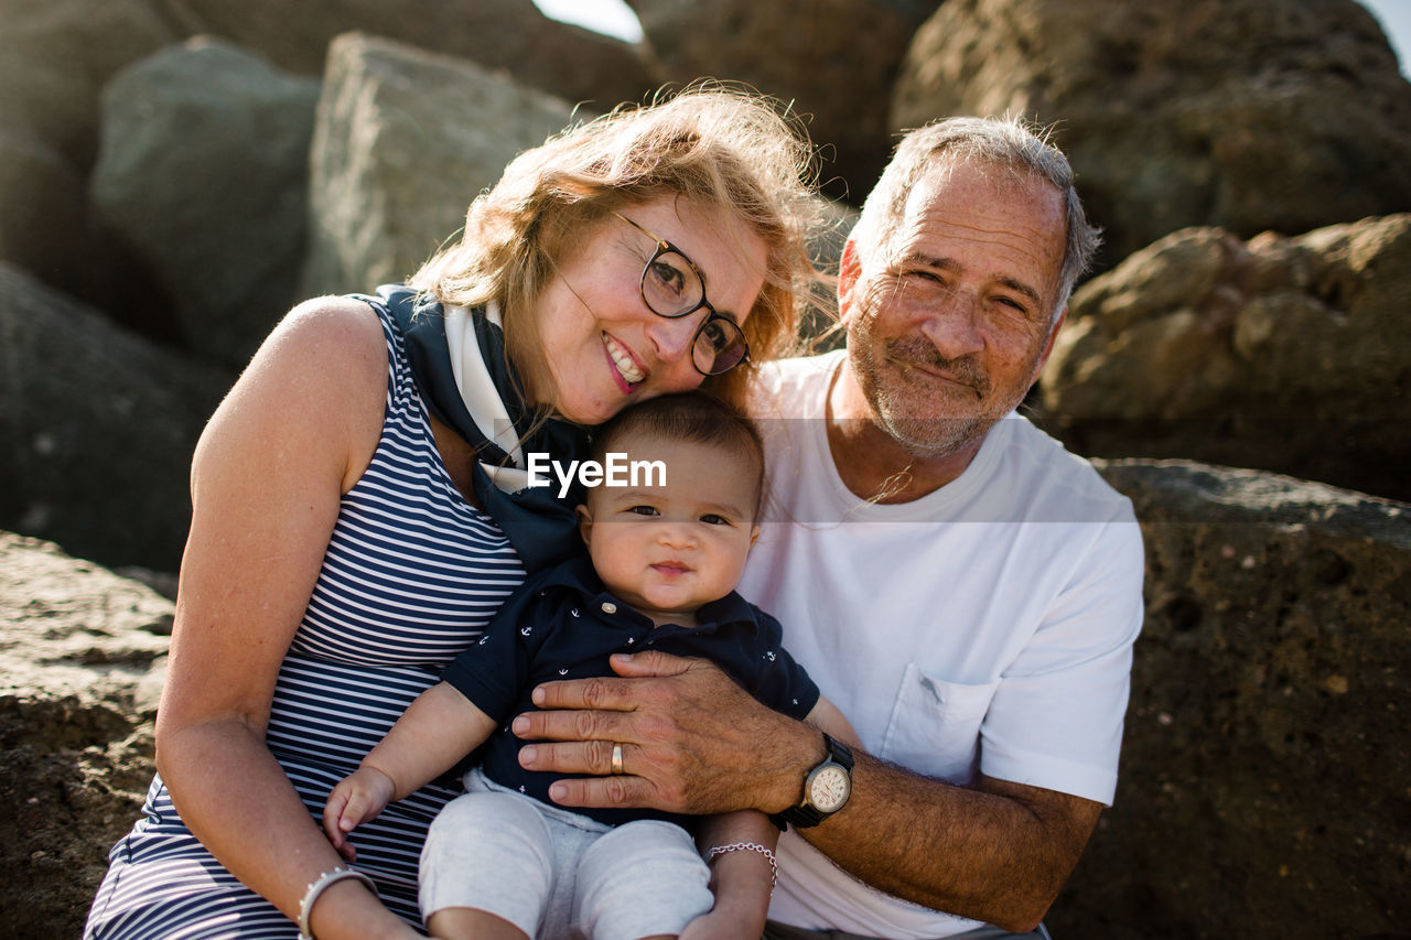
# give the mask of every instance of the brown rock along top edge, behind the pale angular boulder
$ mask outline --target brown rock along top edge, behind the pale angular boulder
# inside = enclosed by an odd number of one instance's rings
[[[550,20],[532,0],[183,0],[190,32],[226,37],[305,75],[325,72],[329,42],[351,30],[473,59],[598,110],[638,100],[656,83],[619,40]]]

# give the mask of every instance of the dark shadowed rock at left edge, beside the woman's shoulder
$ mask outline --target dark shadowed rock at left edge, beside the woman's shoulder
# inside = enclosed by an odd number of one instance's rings
[[[176,570],[188,470],[234,374],[192,364],[0,263],[0,528]]]

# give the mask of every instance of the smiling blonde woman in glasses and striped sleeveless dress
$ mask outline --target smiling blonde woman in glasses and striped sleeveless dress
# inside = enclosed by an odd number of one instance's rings
[[[196,447],[158,776],[86,937],[288,939],[301,913],[320,940],[418,936],[454,792],[367,827],[371,885],[329,876],[313,813],[573,543],[525,454],[581,456],[586,426],[707,375],[735,397],[792,339],[804,157],[745,95],[622,109],[516,158],[415,289],[289,313]]]

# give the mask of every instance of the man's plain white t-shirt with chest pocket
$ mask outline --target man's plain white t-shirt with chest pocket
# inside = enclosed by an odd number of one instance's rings
[[[862,502],[827,440],[844,356],[765,371],[770,495],[741,594],[783,622],[869,754],[958,785],[985,773],[1110,803],[1143,614],[1130,501],[1010,415],[940,490]],[[794,831],[779,862],[782,923],[889,939],[979,926],[865,886]]]

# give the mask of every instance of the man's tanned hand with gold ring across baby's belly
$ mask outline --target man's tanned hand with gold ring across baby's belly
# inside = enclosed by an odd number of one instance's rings
[[[563,806],[649,806],[676,813],[759,809],[799,800],[821,734],[773,711],[706,659],[659,652],[612,656],[621,677],[550,682],[533,692],[514,733],[549,744],[519,751],[529,771],[594,773],[559,781]],[[612,776],[612,745],[622,775]]]

